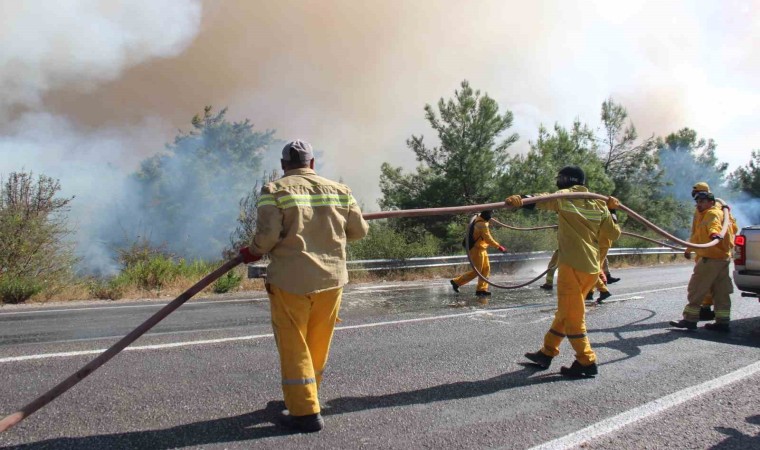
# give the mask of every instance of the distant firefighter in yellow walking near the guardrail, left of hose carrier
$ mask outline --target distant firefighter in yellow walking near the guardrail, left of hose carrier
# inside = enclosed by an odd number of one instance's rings
[[[488,260],[487,252],[488,247],[495,247],[502,253],[507,251],[504,246],[496,242],[491,236],[491,232],[488,230],[488,221],[491,220],[491,214],[491,211],[482,211],[475,218],[475,221],[470,224],[467,230],[470,241],[470,248],[468,249],[470,258],[472,259],[472,263],[475,264],[475,267],[477,267],[480,273],[486,278],[491,274],[491,262]],[[488,292],[488,283],[486,283],[485,279],[479,277],[475,270],[463,273],[453,280],[449,280],[449,282],[451,283],[451,288],[454,289],[454,292],[459,292],[460,286],[469,283],[475,277],[478,278],[475,295],[478,297],[488,297],[491,295],[491,293]]]

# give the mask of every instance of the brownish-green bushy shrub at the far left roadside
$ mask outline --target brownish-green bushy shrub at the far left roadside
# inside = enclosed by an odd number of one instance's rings
[[[35,180],[31,172],[0,178],[0,296],[23,301],[69,280],[76,258],[66,213],[73,198],[59,197],[60,190],[58,180]]]

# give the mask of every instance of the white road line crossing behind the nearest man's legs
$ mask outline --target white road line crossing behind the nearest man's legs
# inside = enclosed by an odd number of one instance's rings
[[[645,292],[660,292],[660,291],[668,291],[673,289],[683,289],[686,286],[677,286],[672,288],[663,288],[663,289],[655,289],[651,291],[644,291],[640,293]],[[635,297],[632,297],[635,298]],[[623,299],[620,299],[618,301],[622,301]],[[226,302],[230,301],[239,301],[239,300],[224,300]],[[212,303],[212,302],[209,302]],[[137,305],[132,305],[137,306]],[[414,323],[414,322],[426,322],[431,320],[445,320],[445,319],[451,319],[456,317],[469,317],[469,316],[477,316],[482,314],[494,314],[499,313],[503,311],[513,311],[515,309],[527,309],[527,308],[545,308],[547,306],[551,306],[551,304],[547,303],[534,303],[534,304],[528,304],[528,305],[516,305],[516,306],[509,306],[505,308],[495,308],[495,309],[481,309],[477,311],[470,311],[466,313],[458,313],[458,314],[444,314],[441,316],[429,316],[429,317],[418,317],[414,319],[403,319],[403,320],[392,320],[392,321],[386,321],[386,322],[372,322],[372,323],[366,323],[366,324],[359,324],[359,325],[348,325],[348,326],[341,326],[341,327],[335,327],[335,331],[340,330],[353,330],[353,329],[359,329],[359,328],[372,328],[372,327],[380,327],[380,326],[387,326],[387,325],[398,325],[398,324],[404,324],[404,323]],[[111,307],[116,308],[116,307]],[[188,330],[193,331],[193,330]],[[205,331],[205,330],[201,330]],[[166,333],[170,334],[170,333]],[[154,334],[151,334],[152,336]],[[167,344],[155,344],[155,345],[141,345],[141,346],[130,346],[125,348],[123,351],[140,351],[140,350],[160,350],[164,348],[177,348],[177,347],[190,347],[195,345],[208,345],[208,344],[218,344],[218,343],[224,343],[224,342],[233,342],[233,341],[245,341],[245,340],[254,340],[254,339],[260,339],[264,337],[272,337],[272,334],[261,334],[261,335],[248,335],[248,336],[239,336],[239,337],[232,337],[232,338],[219,338],[219,339],[204,339],[204,340],[198,340],[198,341],[184,341],[184,342],[171,342]],[[97,338],[96,338],[97,339]],[[74,352],[60,352],[60,353],[40,353],[36,355],[23,355],[23,356],[9,356],[5,358],[0,358],[0,364],[3,363],[9,363],[9,362],[19,362],[19,361],[29,361],[29,360],[36,360],[36,359],[49,359],[49,358],[63,358],[63,357],[71,357],[71,356],[80,356],[80,355],[93,355],[93,354],[99,354],[103,353],[107,349],[97,349],[97,350],[79,350]]]

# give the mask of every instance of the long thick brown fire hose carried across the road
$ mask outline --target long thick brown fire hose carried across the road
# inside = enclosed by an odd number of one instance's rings
[[[593,199],[599,199],[599,200],[608,199],[608,197],[604,195],[594,194],[594,193],[549,194],[545,196],[526,198],[523,200],[523,205],[530,205],[533,203],[539,203],[539,202],[553,200],[557,198],[593,198]],[[447,207],[447,208],[426,208],[426,209],[381,211],[377,213],[367,213],[367,214],[364,214],[363,217],[365,220],[376,220],[376,219],[385,219],[385,218],[392,218],[392,217],[420,217],[420,216],[451,215],[451,214],[479,212],[479,211],[484,211],[487,209],[504,209],[507,207],[508,206],[504,202],[499,202],[499,203],[486,203],[486,204],[481,204],[481,205],[456,206],[456,207]],[[647,227],[649,227],[656,233],[661,234],[665,236],[666,238],[674,242],[677,242],[681,245],[693,247],[693,248],[707,248],[707,247],[712,247],[713,245],[717,244],[717,241],[713,241],[709,244],[695,244],[691,242],[682,241],[676,238],[675,236],[668,234],[666,231],[657,227],[656,225],[644,219],[643,217],[639,216],[633,210],[629,209],[625,205],[621,204],[620,209],[622,209],[623,211],[626,211],[628,214],[631,215],[631,217],[643,223],[644,225],[646,225]],[[720,233],[721,238],[725,236],[726,230],[728,229],[728,224],[729,224],[728,214],[725,214],[724,216],[725,217],[723,220],[723,229],[721,230],[721,233]],[[551,228],[551,227],[547,227],[547,228]],[[468,259],[470,259],[469,254],[467,257]],[[84,367],[76,371],[74,374],[72,374],[71,376],[69,376],[62,382],[60,382],[58,385],[56,385],[49,391],[37,397],[32,402],[23,406],[18,411],[12,414],[9,414],[8,416],[0,420],[0,432],[4,432],[8,430],[9,428],[13,427],[14,425],[18,424],[19,422],[24,420],[26,417],[29,417],[30,415],[34,414],[40,408],[44,407],[51,401],[55,400],[58,396],[60,396],[64,392],[71,389],[73,386],[75,386],[77,383],[82,381],[88,375],[92,374],[100,366],[102,366],[103,364],[108,362],[111,358],[119,354],[132,342],[136,341],[140,336],[145,334],[148,330],[150,330],[155,325],[157,325],[160,321],[166,318],[166,316],[168,316],[169,314],[174,312],[177,308],[182,306],[186,301],[190,300],[195,294],[202,291],[208,285],[216,281],[222,275],[229,272],[230,270],[232,270],[233,268],[235,268],[242,262],[243,262],[242,256],[238,255],[230,259],[229,261],[225,262],[224,264],[222,264],[219,268],[217,268],[210,274],[206,275],[203,279],[195,283],[185,292],[180,294],[177,298],[175,298],[166,306],[161,308],[157,313],[151,316],[148,320],[140,324],[137,328],[135,328],[129,334],[121,338],[118,342],[116,342],[114,345],[109,347],[106,351],[101,353],[95,359],[87,363]],[[470,259],[470,264],[472,265],[473,269],[475,269],[478,276],[481,276],[482,278],[485,279],[485,277],[482,276],[482,274],[477,269],[477,267],[475,267],[475,265],[472,263],[471,259]],[[546,272],[544,272],[544,274],[545,273]],[[541,276],[543,276],[543,274],[539,275],[538,278],[540,278]],[[531,281],[531,283],[533,281]],[[500,286],[493,282],[489,282],[489,284],[492,284],[496,287],[503,287],[504,289],[514,289],[516,287],[526,286],[527,284],[530,284],[530,283],[526,283],[520,286]]]

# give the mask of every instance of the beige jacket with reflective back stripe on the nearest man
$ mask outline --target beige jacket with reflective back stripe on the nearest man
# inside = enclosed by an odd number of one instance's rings
[[[261,188],[257,208],[251,250],[269,253],[268,282],[293,294],[348,283],[346,242],[366,236],[369,225],[347,186],[289,170]]]

